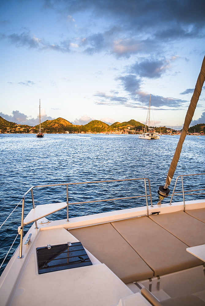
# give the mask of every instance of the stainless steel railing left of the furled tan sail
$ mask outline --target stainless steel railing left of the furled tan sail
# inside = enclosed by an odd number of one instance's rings
[[[68,199],[68,185],[82,185],[82,184],[95,184],[95,183],[109,183],[109,182],[120,182],[120,181],[139,181],[143,180],[144,185],[145,185],[145,195],[142,196],[130,196],[130,197],[121,197],[121,198],[114,198],[114,199],[100,199],[100,200],[92,200],[92,201],[83,201],[83,202],[75,202],[75,203],[69,203]],[[146,186],[146,181],[148,182],[149,185],[149,191],[150,194],[147,194],[147,186]],[[151,195],[151,186],[150,186],[150,180],[148,178],[134,178],[134,179],[124,179],[124,180],[109,180],[109,181],[90,181],[90,182],[80,182],[80,183],[64,183],[64,184],[52,184],[52,185],[37,185],[31,187],[27,192],[25,192],[23,198],[22,198],[22,214],[21,214],[21,228],[20,228],[20,253],[18,258],[23,258],[22,256],[22,247],[23,247],[23,229],[24,229],[24,209],[25,209],[25,198],[28,195],[29,192],[31,192],[32,196],[32,204],[33,208],[35,208],[35,202],[34,202],[34,196],[33,196],[33,189],[34,188],[42,188],[42,187],[52,187],[52,186],[66,186],[66,203],[67,203],[67,222],[69,221],[69,205],[71,204],[84,204],[84,203],[94,203],[94,202],[104,202],[104,201],[114,201],[114,200],[124,200],[124,199],[133,199],[133,198],[140,198],[140,197],[146,197],[146,207],[147,207],[147,216],[149,215],[149,210],[148,210],[148,197],[150,197],[150,203],[151,207],[153,207],[152,204],[152,195]],[[61,208],[62,209],[62,208]],[[28,223],[27,223],[28,224]],[[37,226],[37,220],[35,221],[36,229],[38,229]]]

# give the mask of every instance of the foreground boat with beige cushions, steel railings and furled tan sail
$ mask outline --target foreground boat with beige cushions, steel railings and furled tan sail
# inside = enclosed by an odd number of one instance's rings
[[[17,237],[21,236],[20,245],[0,277],[1,306],[205,305],[204,187],[194,186],[193,198],[187,201],[183,185],[183,177],[200,177],[205,173],[179,175],[173,195],[180,179],[177,193],[181,191],[183,200],[173,203],[172,195],[170,203],[162,203],[169,195],[168,186],[204,80],[205,57],[166,183],[159,186],[157,204],[152,203],[147,178],[37,185],[25,192],[21,200],[21,225],[17,231]],[[70,204],[119,200],[104,199],[103,194],[103,199],[85,201],[80,194],[81,202],[69,203],[70,186],[88,184],[92,189],[93,184],[110,186],[110,182],[118,181],[139,182],[140,188],[144,181],[145,205],[69,219]],[[62,186],[66,201],[56,203],[54,197],[51,204],[35,206],[33,189],[41,188],[44,198],[45,188],[51,186]],[[200,199],[194,196],[199,195],[199,190]],[[24,216],[28,194],[32,198],[32,209]],[[134,194],[121,199],[137,197]],[[31,202],[30,197],[27,202]],[[63,208],[67,208],[65,218],[47,219],[48,215]],[[11,227],[12,222],[13,219]],[[32,226],[24,236],[24,227],[28,224]]]

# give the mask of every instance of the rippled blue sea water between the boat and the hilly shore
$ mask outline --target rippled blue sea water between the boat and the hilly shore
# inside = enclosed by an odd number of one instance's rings
[[[0,224],[23,194],[34,185],[147,177],[151,182],[153,203],[157,203],[156,192],[159,185],[165,184],[178,139],[179,136],[143,140],[138,139],[137,135],[46,134],[44,138],[36,138],[34,134],[0,134]],[[171,189],[178,175],[205,172],[204,144],[205,136],[186,137]],[[204,178],[201,176],[189,177],[184,182],[185,186],[196,189],[204,186]],[[71,185],[69,201],[138,195],[144,190],[143,184],[143,181],[124,181],[108,185]],[[64,202],[66,187],[35,189],[34,199],[36,204]],[[189,199],[188,196],[186,199]],[[175,196],[173,200],[182,199]],[[71,205],[69,217],[135,207],[144,203],[144,199],[135,199]],[[26,211],[31,208],[31,197],[28,196]],[[5,227],[1,229],[1,258],[17,234],[20,218],[21,207],[6,223],[6,230]],[[66,218],[66,210],[49,218]]]

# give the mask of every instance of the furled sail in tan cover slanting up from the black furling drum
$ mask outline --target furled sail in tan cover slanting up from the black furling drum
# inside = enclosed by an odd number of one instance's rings
[[[199,76],[198,76],[198,79],[197,79],[197,82],[196,82],[194,93],[192,95],[192,99],[191,99],[191,102],[190,102],[190,105],[189,105],[189,108],[188,108],[188,111],[187,111],[187,114],[186,114],[186,117],[185,117],[185,120],[184,120],[184,126],[183,126],[183,129],[181,131],[180,139],[178,141],[177,148],[176,148],[176,151],[174,153],[174,157],[172,159],[172,162],[171,162],[168,174],[167,174],[166,184],[165,184],[164,188],[167,188],[167,186],[169,186],[171,184],[171,180],[173,178],[174,172],[175,172],[176,167],[177,167],[177,163],[179,161],[182,145],[183,145],[184,139],[187,135],[189,125],[192,121],[194,111],[196,109],[196,104],[197,104],[197,102],[199,100],[199,96],[201,94],[201,90],[202,90],[202,87],[203,87],[204,80],[205,80],[205,56],[203,58],[201,71],[199,73]]]

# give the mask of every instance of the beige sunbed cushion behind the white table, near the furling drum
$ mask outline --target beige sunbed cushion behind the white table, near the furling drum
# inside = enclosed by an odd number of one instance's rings
[[[191,217],[184,211],[151,215],[150,219],[189,247],[205,244],[205,223]]]

